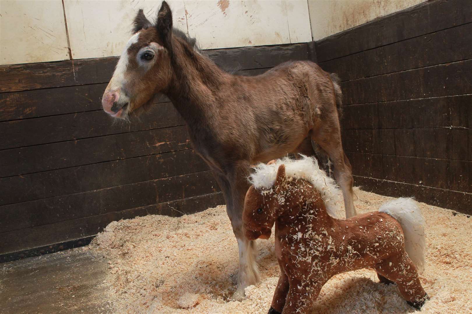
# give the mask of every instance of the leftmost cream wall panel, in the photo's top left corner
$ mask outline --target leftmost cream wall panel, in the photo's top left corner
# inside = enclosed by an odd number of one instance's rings
[[[67,59],[61,1],[0,0],[0,64]]]

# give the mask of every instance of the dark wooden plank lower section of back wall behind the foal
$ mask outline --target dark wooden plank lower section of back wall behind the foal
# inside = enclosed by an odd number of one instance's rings
[[[206,53],[225,69],[256,75],[312,59],[312,48]],[[169,99],[155,99],[131,123],[113,123],[103,112],[101,96],[117,61],[0,67],[0,262],[87,244],[111,221],[224,204]]]

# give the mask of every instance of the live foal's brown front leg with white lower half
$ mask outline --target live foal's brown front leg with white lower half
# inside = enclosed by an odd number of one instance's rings
[[[218,183],[225,194],[226,212],[238,243],[239,272],[237,289],[233,295],[235,300],[244,297],[244,288],[259,282],[255,242],[247,240],[243,232],[244,197],[249,189],[248,171],[249,163],[239,163],[234,169],[230,169],[227,175],[217,174]]]

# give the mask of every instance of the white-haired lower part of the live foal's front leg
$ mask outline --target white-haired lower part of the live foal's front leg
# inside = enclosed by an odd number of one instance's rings
[[[241,300],[244,297],[244,289],[259,282],[259,268],[256,263],[257,250],[255,242],[238,238],[237,245],[239,249],[239,273],[237,289],[233,299]]]

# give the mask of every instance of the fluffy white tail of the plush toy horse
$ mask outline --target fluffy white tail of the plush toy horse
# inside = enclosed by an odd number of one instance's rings
[[[379,211],[398,220],[405,234],[406,253],[421,273],[424,270],[424,254],[426,253],[425,221],[416,202],[411,198],[401,197],[383,204]]]

